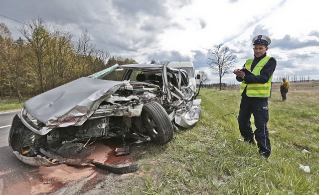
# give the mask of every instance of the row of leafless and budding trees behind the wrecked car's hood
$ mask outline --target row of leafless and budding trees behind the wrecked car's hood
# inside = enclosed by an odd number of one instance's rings
[[[118,63],[134,64],[134,59],[110,56],[97,49],[85,30],[74,35],[55,26],[47,26],[41,18],[22,25],[21,37],[12,38],[0,23],[0,98],[30,97],[60,85],[91,75]]]

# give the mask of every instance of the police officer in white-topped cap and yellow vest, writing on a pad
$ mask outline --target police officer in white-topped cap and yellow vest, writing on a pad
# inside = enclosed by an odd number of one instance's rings
[[[255,145],[258,152],[267,159],[271,153],[267,122],[269,119],[268,97],[270,96],[271,82],[277,62],[267,56],[268,45],[271,40],[268,36],[257,35],[253,38],[254,58],[248,59],[244,67],[253,74],[245,74],[239,69],[234,70],[236,80],[241,83],[242,96],[238,115],[239,130],[244,141]],[[256,130],[252,130],[250,117],[254,115]],[[254,139],[255,135],[255,139]]]

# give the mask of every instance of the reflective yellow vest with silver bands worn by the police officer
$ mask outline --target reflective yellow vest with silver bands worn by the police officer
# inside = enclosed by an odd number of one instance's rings
[[[263,67],[267,64],[271,57],[265,56],[263,59],[261,59],[258,64],[255,66],[254,70],[252,71],[254,75],[260,75],[260,71],[263,69]],[[247,69],[250,70],[250,67],[253,63],[254,58],[248,59],[244,65]],[[276,63],[277,66],[277,63]],[[271,88],[271,81],[273,80],[273,75],[269,78],[267,83],[261,84],[261,83],[251,83],[246,84],[245,81],[241,83],[240,86],[240,95],[244,92],[246,89],[246,95],[248,97],[256,97],[256,98],[268,98],[270,96],[270,88]]]

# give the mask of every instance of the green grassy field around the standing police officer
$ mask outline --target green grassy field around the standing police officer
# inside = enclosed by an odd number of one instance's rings
[[[202,113],[163,147],[150,146],[140,171],[114,176],[109,194],[136,195],[318,195],[319,83],[291,84],[281,101],[279,84],[269,100],[272,154],[241,141],[238,90],[202,89]],[[253,123],[253,118],[252,118]],[[254,126],[253,126],[254,127]],[[307,150],[310,153],[303,153]],[[310,173],[299,169],[310,167]],[[113,189],[113,190],[112,190]]]

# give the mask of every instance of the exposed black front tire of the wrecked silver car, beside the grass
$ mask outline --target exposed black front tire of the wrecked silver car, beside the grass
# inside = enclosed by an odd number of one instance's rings
[[[164,145],[173,139],[174,128],[164,108],[156,101],[143,106],[142,124],[153,143]]]

